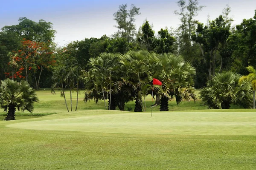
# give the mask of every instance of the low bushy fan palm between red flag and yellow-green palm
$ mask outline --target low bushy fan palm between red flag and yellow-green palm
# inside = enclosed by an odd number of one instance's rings
[[[229,109],[230,104],[251,108],[252,95],[250,82],[243,81],[240,74],[225,71],[215,74],[207,87],[200,91],[200,98],[209,109]]]

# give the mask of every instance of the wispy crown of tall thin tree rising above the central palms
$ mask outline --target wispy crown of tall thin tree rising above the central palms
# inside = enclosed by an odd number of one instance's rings
[[[113,19],[116,20],[118,31],[117,37],[126,38],[128,42],[134,40],[136,35],[135,17],[140,15],[140,8],[137,8],[134,4],[131,4],[131,8],[127,9],[127,4],[119,6],[118,11],[113,14]]]

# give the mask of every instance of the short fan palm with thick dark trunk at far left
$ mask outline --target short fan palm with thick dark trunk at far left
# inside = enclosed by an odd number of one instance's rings
[[[34,102],[38,102],[35,89],[29,86],[25,80],[17,82],[12,79],[1,80],[0,85],[0,107],[7,112],[6,120],[15,120],[16,108],[18,111],[34,110]]]

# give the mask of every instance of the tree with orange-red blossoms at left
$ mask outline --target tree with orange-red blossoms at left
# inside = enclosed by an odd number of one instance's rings
[[[35,78],[35,87],[39,88],[41,73],[44,68],[54,65],[55,59],[49,44],[45,42],[35,42],[31,40],[23,40],[18,51],[10,53],[9,67],[12,71],[5,73],[6,77],[16,79],[25,78],[28,81],[29,73]]]

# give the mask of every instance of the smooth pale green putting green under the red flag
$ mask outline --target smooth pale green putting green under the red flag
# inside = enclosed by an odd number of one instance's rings
[[[103,112],[103,111],[98,111]],[[53,116],[54,119],[51,119]],[[127,113],[51,115],[47,119],[15,122],[7,127],[99,133],[256,135],[254,112]]]

